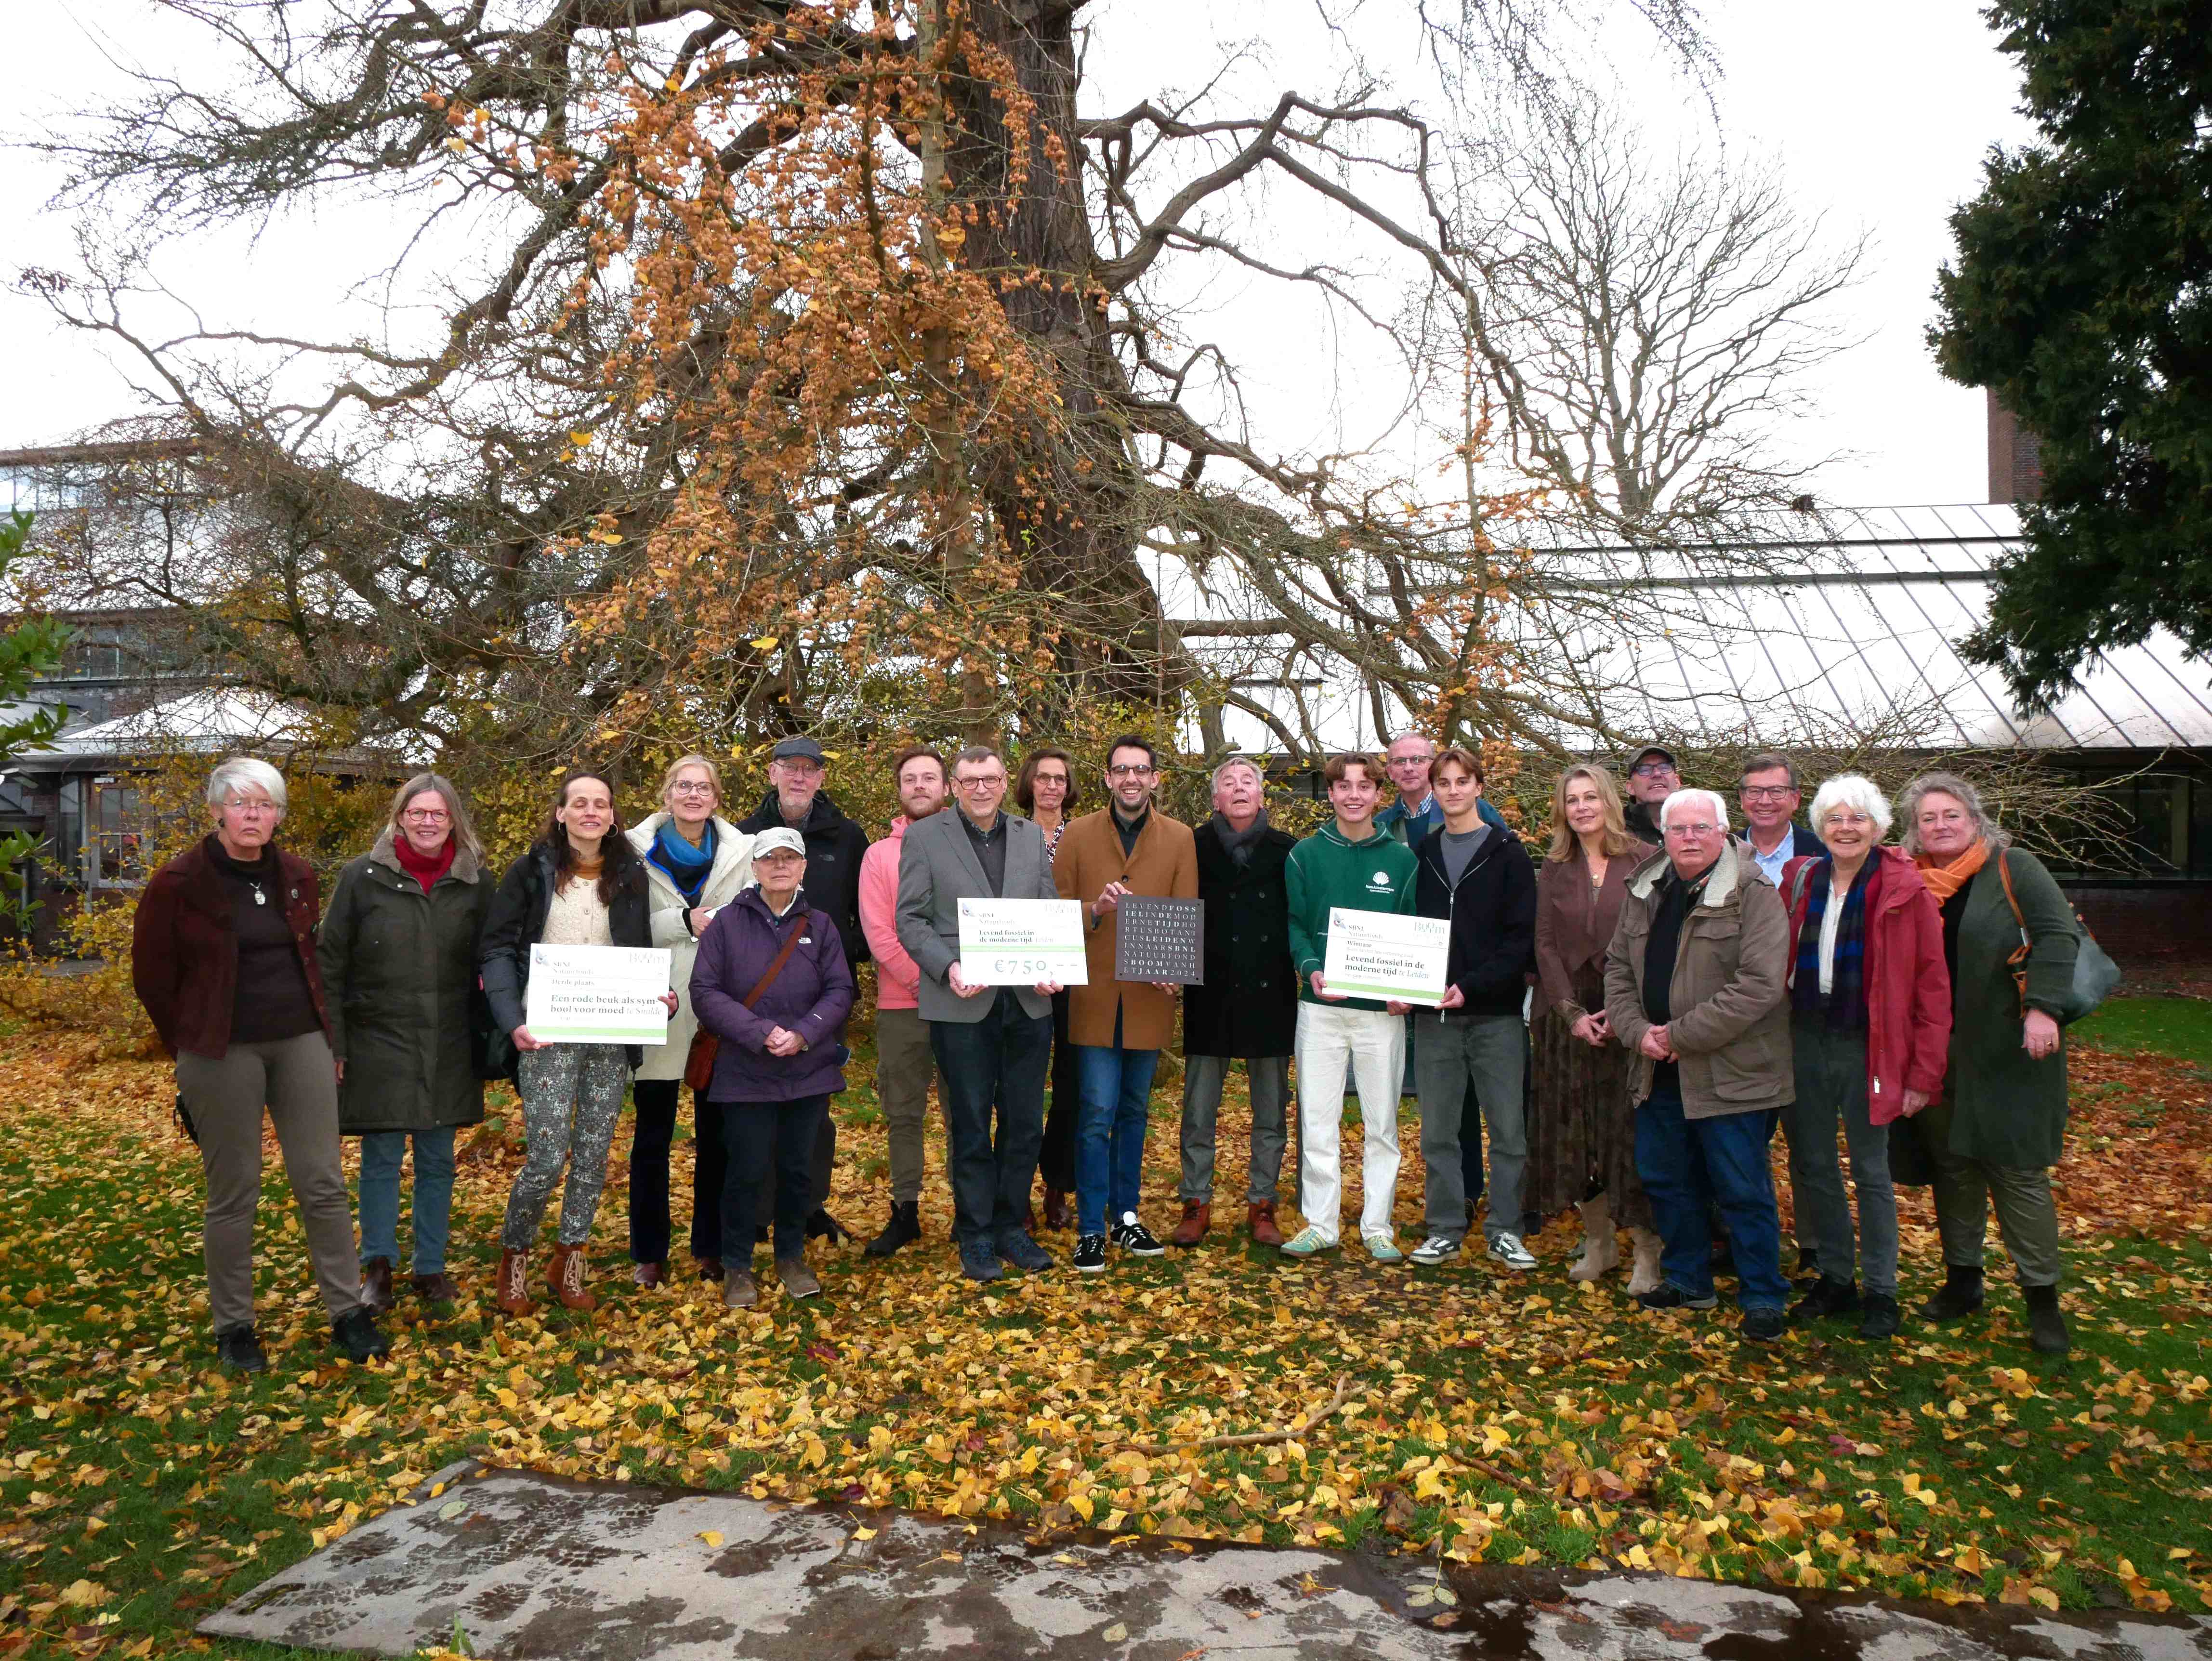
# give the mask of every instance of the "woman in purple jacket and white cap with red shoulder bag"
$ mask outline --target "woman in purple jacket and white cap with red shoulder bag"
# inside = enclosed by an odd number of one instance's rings
[[[776,1166],[776,1278],[792,1298],[823,1289],[807,1267],[807,1161],[830,1097],[845,1088],[852,969],[827,911],[799,885],[807,845],[776,825],[752,843],[754,887],[714,913],[692,962],[692,1009],[721,1040],[708,1104],[721,1112],[721,1300],[750,1309],[761,1172]]]

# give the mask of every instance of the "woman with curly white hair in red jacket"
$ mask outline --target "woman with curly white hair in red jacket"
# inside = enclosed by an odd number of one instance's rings
[[[1942,911],[1911,858],[1882,847],[1889,801],[1871,779],[1843,774],[1812,798],[1812,829],[1827,854],[1783,867],[1790,909],[1790,1037],[1796,1101],[1783,1108],[1790,1190],[1814,1239],[1820,1278],[1792,1320],[1858,1314],[1860,1338],[1898,1329],[1898,1197],[1889,1183],[1889,1126],[1942,1088],[1951,1048],[1951,971]],[[1851,1148],[1851,1208],[1836,1159],[1836,1121]]]

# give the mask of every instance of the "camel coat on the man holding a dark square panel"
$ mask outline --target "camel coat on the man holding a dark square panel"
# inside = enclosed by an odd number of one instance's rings
[[[1175,1040],[1175,995],[1157,986],[1113,978],[1117,924],[1113,911],[1093,929],[1091,902],[1108,882],[1161,900],[1199,898],[1199,843],[1190,825],[1168,818],[1155,805],[1124,856],[1113,807],[1068,821],[1053,854],[1053,882],[1062,900],[1084,902],[1084,955],[1088,986],[1068,986],[1068,1042],[1113,1044],[1115,1015],[1121,1017],[1121,1048],[1164,1051]]]

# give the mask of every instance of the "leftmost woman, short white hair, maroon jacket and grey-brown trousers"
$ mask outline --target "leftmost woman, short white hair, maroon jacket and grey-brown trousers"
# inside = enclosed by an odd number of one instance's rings
[[[383,1356],[354,1270],[354,1212],[338,1166],[338,1066],[314,955],[314,867],[276,847],[285,787],[230,756],[208,779],[215,829],[146,882],[131,922],[131,984],[177,1062],[177,1104],[208,1179],[201,1250],[226,1367],[259,1373],[254,1210],[261,1115],[276,1126],[307,1256],[349,1360]]]

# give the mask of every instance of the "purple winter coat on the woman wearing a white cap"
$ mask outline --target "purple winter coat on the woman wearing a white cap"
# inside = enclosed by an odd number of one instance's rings
[[[761,1002],[745,1009],[739,1000],[761,982],[792,929],[805,931],[799,949]],[[852,969],[836,922],[807,905],[805,889],[783,918],[768,909],[759,885],[739,894],[714,913],[692,960],[692,1009],[699,1024],[721,1040],[708,1099],[796,1101],[843,1090],[841,1040],[852,997]],[[770,1055],[768,1033],[774,1026],[799,1033],[807,1046],[799,1055]]]

